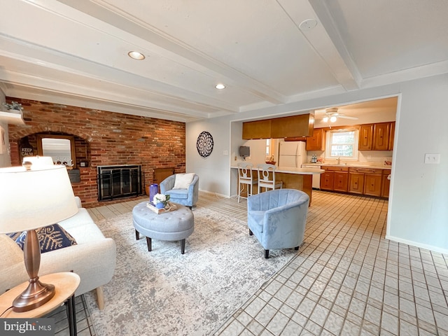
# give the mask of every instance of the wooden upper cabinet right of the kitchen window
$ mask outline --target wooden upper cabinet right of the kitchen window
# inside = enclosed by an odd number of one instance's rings
[[[365,124],[359,127],[359,151],[392,151],[395,122]]]

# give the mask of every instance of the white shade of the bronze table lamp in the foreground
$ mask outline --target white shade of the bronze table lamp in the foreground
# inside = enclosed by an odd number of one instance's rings
[[[0,233],[41,228],[78,212],[65,166],[0,169]]]

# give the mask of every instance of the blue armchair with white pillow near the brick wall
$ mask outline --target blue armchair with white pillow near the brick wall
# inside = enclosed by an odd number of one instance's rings
[[[174,189],[176,175],[168,176],[167,179],[160,182],[160,193],[169,195],[169,201],[186,207],[193,207],[199,197],[199,176],[195,174],[190,186],[186,189]]]

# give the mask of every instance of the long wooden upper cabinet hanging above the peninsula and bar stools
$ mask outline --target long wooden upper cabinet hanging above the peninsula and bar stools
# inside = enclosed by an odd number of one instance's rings
[[[314,128],[314,116],[301,114],[267,120],[243,123],[243,139],[280,139],[311,137]]]

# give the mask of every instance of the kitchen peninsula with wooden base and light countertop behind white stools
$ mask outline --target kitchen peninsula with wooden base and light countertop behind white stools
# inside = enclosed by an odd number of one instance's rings
[[[236,169],[238,172],[237,166],[232,166],[230,168]],[[253,176],[257,176],[257,170],[256,165],[253,165]],[[314,174],[322,174],[323,172],[325,172],[325,170],[318,168],[277,167],[275,171],[275,180],[283,181],[283,188],[304,191],[308,194],[309,204],[311,204],[312,176]],[[257,186],[254,186],[253,193],[257,193]],[[242,192],[241,195],[243,195]]]

